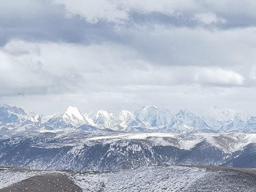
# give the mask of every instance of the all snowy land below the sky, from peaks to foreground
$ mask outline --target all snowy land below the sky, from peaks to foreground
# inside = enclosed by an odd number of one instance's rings
[[[4,104],[0,191],[255,191],[255,132],[256,117],[218,107],[84,114],[70,106],[43,116]]]

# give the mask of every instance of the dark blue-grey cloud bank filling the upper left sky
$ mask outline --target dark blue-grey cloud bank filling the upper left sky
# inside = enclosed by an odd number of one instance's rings
[[[49,1],[26,1],[27,7],[0,6],[0,46],[11,39],[91,44],[104,40],[122,41],[114,24],[91,24],[78,15],[67,17],[62,6]],[[3,11],[4,9],[7,9]],[[119,37],[119,38],[118,38]]]

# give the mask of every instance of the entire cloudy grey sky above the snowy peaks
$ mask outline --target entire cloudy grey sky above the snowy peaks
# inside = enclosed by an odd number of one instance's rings
[[[0,0],[0,103],[256,115],[254,0]]]

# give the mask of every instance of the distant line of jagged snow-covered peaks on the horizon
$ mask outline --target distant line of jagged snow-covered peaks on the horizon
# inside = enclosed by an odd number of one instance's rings
[[[175,114],[155,105],[143,106],[136,112],[122,110],[114,114],[99,110],[85,114],[69,106],[65,112],[51,116],[26,112],[7,104],[0,107],[0,138],[26,133],[70,133],[103,129],[143,133],[254,133],[256,117],[243,111],[220,107],[205,114],[187,109]]]

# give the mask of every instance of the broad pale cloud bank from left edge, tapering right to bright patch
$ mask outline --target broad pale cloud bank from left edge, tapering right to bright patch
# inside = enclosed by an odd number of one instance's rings
[[[127,92],[125,89],[129,86],[169,87],[195,83],[230,87],[243,86],[245,79],[236,71],[220,67],[159,66],[143,60],[133,48],[113,43],[78,46],[13,40],[2,48],[1,58],[4,65],[0,71],[11,74],[1,77],[2,82],[8,82],[6,87],[2,83],[2,88],[13,89],[16,94],[117,89]]]

